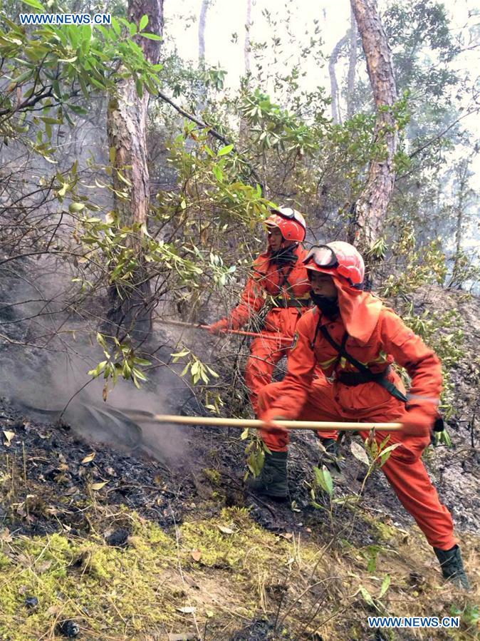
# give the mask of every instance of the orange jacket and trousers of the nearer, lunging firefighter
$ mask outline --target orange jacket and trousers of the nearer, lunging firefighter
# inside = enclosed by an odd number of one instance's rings
[[[335,280],[335,284],[339,288],[339,282]],[[350,300],[352,309],[345,305],[345,297],[349,295],[348,288],[340,289],[341,315],[335,319],[323,317],[315,307],[298,322],[296,346],[291,350],[288,360],[288,373],[281,383],[266,386],[259,396],[261,419],[271,421],[275,416],[284,416],[286,419],[306,421],[402,422],[407,409],[420,408],[432,417],[433,424],[442,390],[439,359],[392,309],[383,306],[372,294],[352,294],[356,297],[353,302]],[[374,309],[372,314],[370,309]],[[349,315],[353,310],[357,314]],[[362,323],[362,317],[365,323]],[[369,324],[368,317],[372,332],[367,338],[365,326]],[[372,324],[372,319],[375,324]],[[343,372],[357,370],[340,357],[323,334],[318,332],[318,324],[325,324],[328,333],[338,344],[342,343],[345,336],[345,325],[350,326],[356,334],[363,332],[362,339],[351,337],[348,333],[346,352],[373,372],[388,368],[388,379],[401,391],[405,389],[400,377],[389,366],[394,360],[404,366],[412,379],[407,409],[405,403],[375,381],[353,386],[343,384],[339,380]],[[333,382],[325,376],[315,378],[315,366],[318,365]],[[368,434],[360,430],[363,439]],[[390,436],[388,445],[400,443],[400,446],[391,452],[382,470],[430,545],[449,550],[457,543],[452,516],[440,503],[421,458],[430,442],[430,434],[425,430],[419,431],[418,436],[407,436],[402,431],[381,432],[375,435],[379,446],[387,435]],[[271,450],[286,450],[288,431],[263,430],[261,436]],[[319,436],[336,438],[332,432],[319,433]]]

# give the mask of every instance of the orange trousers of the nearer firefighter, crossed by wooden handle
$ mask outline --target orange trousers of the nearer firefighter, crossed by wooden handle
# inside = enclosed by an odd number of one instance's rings
[[[281,395],[281,383],[270,384],[261,390],[259,394],[259,416],[273,406],[275,399]],[[335,399],[334,386],[326,379],[315,379],[310,389],[308,400],[298,414],[300,421],[357,421],[367,422],[397,422],[401,420],[405,408],[400,401],[392,397],[388,403],[388,409],[383,404],[375,409],[372,404],[370,416],[348,416],[345,407],[338,404]],[[391,408],[391,409],[390,409]],[[390,411],[389,411],[390,409]],[[360,428],[360,424],[359,424]],[[261,438],[271,451],[286,451],[289,442],[288,431],[260,431]],[[370,433],[360,431],[362,439],[366,439]],[[404,436],[402,432],[379,432],[375,435],[378,445],[385,440],[387,434],[390,441],[387,445],[401,443],[390,454],[387,462],[382,466],[382,471],[387,476],[390,485],[394,489],[402,506],[413,516],[417,525],[427,538],[427,541],[434,548],[449,550],[458,540],[454,537],[454,523],[452,515],[447,508],[440,503],[436,489],[428,476],[422,461],[422,453],[429,445],[429,437]],[[338,433],[319,432],[318,436],[323,438],[336,439]]]

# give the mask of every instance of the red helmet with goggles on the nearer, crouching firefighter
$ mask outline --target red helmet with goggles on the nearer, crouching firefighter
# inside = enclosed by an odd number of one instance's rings
[[[353,287],[359,287],[365,277],[362,257],[353,245],[343,240],[335,240],[327,245],[314,245],[303,265],[314,272],[343,276]]]

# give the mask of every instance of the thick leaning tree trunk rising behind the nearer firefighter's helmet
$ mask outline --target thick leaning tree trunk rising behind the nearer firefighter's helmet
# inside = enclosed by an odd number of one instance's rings
[[[380,236],[395,183],[394,157],[397,151],[397,127],[390,108],[397,101],[392,66],[392,52],[380,22],[375,0],[350,0],[362,37],[367,71],[372,86],[377,120],[375,142],[382,153],[370,161],[367,185],[355,207],[355,220],[349,230],[350,241],[368,250]]]

